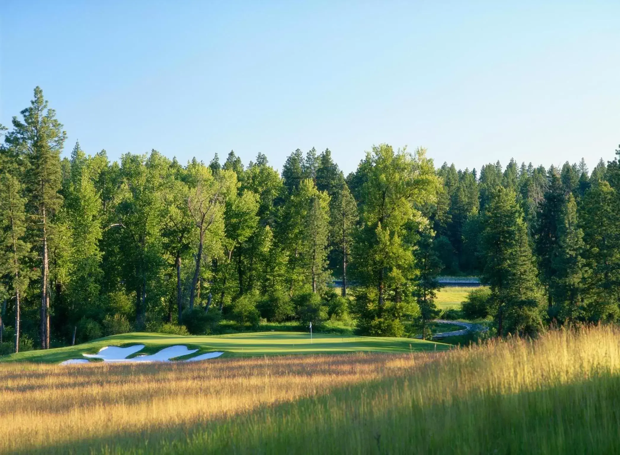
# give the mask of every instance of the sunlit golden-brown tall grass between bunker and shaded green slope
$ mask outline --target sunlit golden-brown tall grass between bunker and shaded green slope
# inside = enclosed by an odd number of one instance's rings
[[[378,379],[394,356],[278,356],[187,364],[3,364],[0,451],[148,437]],[[401,368],[402,369],[402,368]]]

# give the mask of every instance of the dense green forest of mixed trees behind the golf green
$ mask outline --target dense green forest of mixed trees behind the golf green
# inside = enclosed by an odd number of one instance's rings
[[[591,172],[457,170],[380,144],[346,176],[329,149],[281,172],[233,151],[61,157],[39,87],[1,128],[0,354],[264,322],[410,336],[440,314],[440,275],[480,276],[461,316],[499,336],[620,317],[619,150]]]

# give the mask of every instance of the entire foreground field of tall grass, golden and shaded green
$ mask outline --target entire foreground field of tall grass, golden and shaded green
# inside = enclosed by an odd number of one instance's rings
[[[620,331],[438,353],[0,365],[2,453],[618,453]]]

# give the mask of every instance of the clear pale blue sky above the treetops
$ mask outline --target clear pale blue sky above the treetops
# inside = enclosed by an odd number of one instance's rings
[[[618,0],[4,0],[0,123],[39,85],[66,154],[280,168],[314,146],[350,172],[386,142],[591,168],[620,143],[619,18]]]

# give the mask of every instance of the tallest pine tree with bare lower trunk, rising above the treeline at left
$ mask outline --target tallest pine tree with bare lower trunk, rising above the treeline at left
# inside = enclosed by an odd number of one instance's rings
[[[47,110],[47,112],[46,112]],[[50,347],[50,289],[49,289],[49,245],[48,236],[55,212],[60,208],[62,197],[58,193],[61,186],[60,152],[63,149],[66,133],[63,125],[56,120],[56,112],[48,109],[40,87],[34,90],[30,107],[20,112],[23,121],[13,117],[13,130],[6,137],[12,147],[24,155],[29,164],[27,190],[29,193],[29,212],[35,220],[37,234],[35,246],[41,254],[41,347]]]

